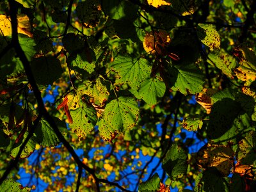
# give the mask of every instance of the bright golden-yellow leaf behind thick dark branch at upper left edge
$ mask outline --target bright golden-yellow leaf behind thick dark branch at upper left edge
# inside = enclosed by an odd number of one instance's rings
[[[28,35],[29,37],[33,36],[33,34],[30,32],[31,26],[27,15],[17,15],[17,22],[18,33]],[[0,32],[2,36],[12,35],[12,24],[10,17],[7,17],[6,15],[0,15]]]

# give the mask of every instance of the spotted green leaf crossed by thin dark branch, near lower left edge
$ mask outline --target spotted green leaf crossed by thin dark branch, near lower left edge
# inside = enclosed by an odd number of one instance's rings
[[[10,154],[10,156],[12,158],[15,158],[17,156],[22,143],[26,140],[27,137],[28,137],[28,131],[25,132],[22,141],[20,140],[19,143],[14,144],[13,149],[12,149],[11,154]],[[33,151],[35,150],[35,147],[36,147],[35,137],[32,136],[28,140],[28,143],[25,145],[24,149],[22,150],[22,152],[20,154],[20,158],[23,159],[23,158],[29,157],[33,153]]]

